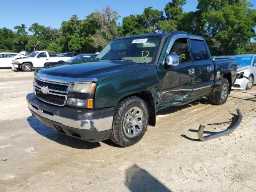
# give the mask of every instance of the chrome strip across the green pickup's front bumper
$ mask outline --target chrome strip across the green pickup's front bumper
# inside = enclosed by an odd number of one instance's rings
[[[112,128],[113,116],[93,120],[74,120],[57,115],[47,114],[47,112],[44,112],[44,110],[34,108],[30,103],[28,103],[28,108],[41,117],[71,128],[86,130],[96,128],[98,132],[110,130]]]

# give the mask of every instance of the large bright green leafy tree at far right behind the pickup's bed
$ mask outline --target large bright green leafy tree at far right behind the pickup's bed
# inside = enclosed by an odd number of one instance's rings
[[[197,8],[214,54],[238,54],[255,37],[256,10],[251,7],[247,0],[198,0]]]

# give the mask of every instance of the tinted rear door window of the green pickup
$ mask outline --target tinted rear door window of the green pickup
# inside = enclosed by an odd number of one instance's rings
[[[191,40],[194,61],[209,60],[209,54],[203,41]]]

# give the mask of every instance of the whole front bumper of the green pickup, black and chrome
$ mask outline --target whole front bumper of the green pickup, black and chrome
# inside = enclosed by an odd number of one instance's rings
[[[46,126],[89,142],[108,139],[112,129],[114,108],[88,110],[69,106],[58,107],[27,95],[28,108]]]

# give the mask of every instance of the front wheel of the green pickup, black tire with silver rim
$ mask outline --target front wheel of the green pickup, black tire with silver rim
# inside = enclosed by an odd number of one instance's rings
[[[137,109],[138,109],[138,112],[140,110],[140,112],[137,113],[137,114],[140,114],[142,117],[140,119],[141,120],[140,127],[137,125],[134,125],[137,123],[139,118],[138,119],[134,118],[133,121],[131,119],[127,118],[129,113],[131,113],[130,116],[132,116],[133,108],[135,108],[134,117],[136,117]],[[128,119],[130,120],[129,121],[130,124],[126,123],[128,121]],[[125,126],[125,124],[126,124],[126,126]],[[127,128],[127,126],[131,126],[132,128]],[[137,126],[137,128],[136,128],[136,126]],[[144,136],[144,134],[146,132],[147,126],[148,126],[148,108],[147,108],[146,103],[140,97],[131,96],[131,97],[126,98],[126,99],[122,100],[121,102],[119,102],[115,108],[110,139],[114,143],[116,143],[120,146],[123,146],[123,147],[132,146],[141,140],[141,138]],[[126,133],[124,131],[125,129],[126,129]],[[130,129],[130,130],[128,130],[128,129]],[[137,130],[138,132],[133,131],[132,129]],[[132,134],[134,134],[134,135],[132,135]],[[130,136],[130,138],[129,138],[129,136]]]

